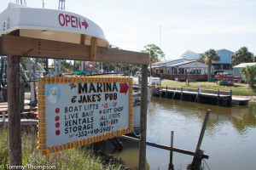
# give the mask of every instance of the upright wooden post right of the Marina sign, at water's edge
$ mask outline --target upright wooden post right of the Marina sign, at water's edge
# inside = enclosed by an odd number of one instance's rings
[[[141,138],[139,144],[139,170],[146,166],[146,133],[147,133],[147,99],[148,99],[148,65],[142,65],[142,96],[141,96]]]

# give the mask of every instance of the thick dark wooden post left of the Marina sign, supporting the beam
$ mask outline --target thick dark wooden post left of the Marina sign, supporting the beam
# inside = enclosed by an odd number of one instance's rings
[[[20,133],[20,57],[8,57],[9,166],[22,165]]]

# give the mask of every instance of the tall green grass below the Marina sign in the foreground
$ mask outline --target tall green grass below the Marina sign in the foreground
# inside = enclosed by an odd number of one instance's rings
[[[9,148],[7,142],[7,130],[0,128],[0,165],[9,164]],[[63,152],[51,154],[53,161],[49,160],[49,156],[42,156],[38,154],[36,147],[38,146],[38,137],[34,133],[22,133],[22,164],[26,166],[33,161],[32,166],[55,166],[54,169],[84,169],[84,170],[98,170],[98,169],[120,169],[120,165],[103,165],[102,157],[95,156],[90,150],[83,147],[66,150]],[[5,167],[6,168],[6,167]]]

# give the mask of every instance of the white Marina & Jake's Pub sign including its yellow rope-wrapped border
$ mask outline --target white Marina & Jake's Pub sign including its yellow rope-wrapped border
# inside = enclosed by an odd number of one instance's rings
[[[131,78],[44,77],[39,84],[39,150],[67,150],[131,132]]]

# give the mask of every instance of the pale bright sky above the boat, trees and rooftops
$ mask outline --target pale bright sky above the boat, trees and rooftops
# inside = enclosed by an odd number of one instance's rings
[[[8,3],[1,0],[0,12]],[[26,0],[42,8],[43,0]],[[58,8],[59,0],[44,0],[44,8]],[[255,0],[66,0],[66,10],[93,20],[108,42],[140,51],[154,43],[177,59],[187,50],[203,53],[210,48],[233,52],[246,46],[256,54]]]

